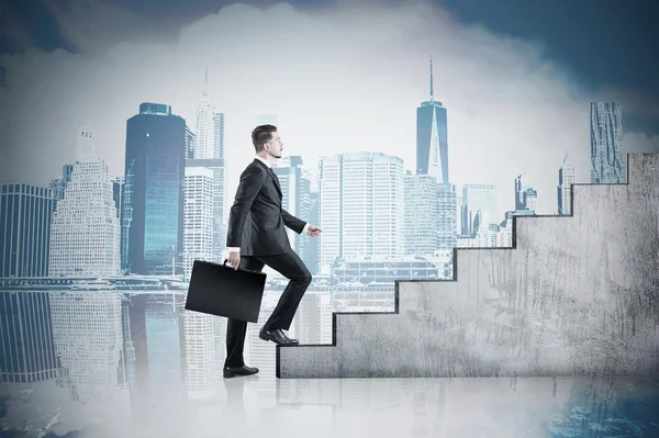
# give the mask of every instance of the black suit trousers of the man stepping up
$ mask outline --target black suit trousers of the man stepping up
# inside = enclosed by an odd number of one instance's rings
[[[288,254],[277,256],[241,257],[241,269],[260,272],[266,265],[289,279],[289,283],[283,290],[277,307],[264,325],[264,329],[276,330],[280,328],[288,330],[293,322],[300,301],[304,296],[309,284],[311,284],[311,272],[292,249]],[[245,364],[243,349],[246,332],[247,322],[227,318],[225,367],[233,368]]]

